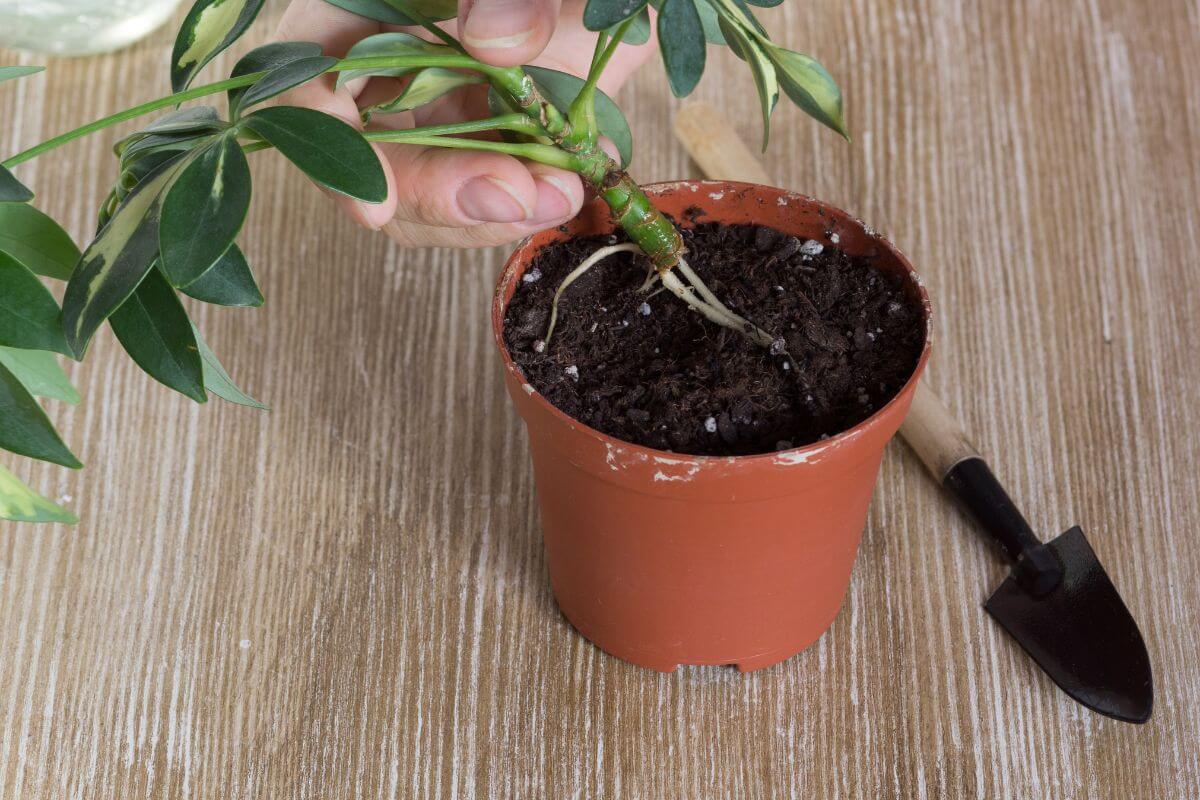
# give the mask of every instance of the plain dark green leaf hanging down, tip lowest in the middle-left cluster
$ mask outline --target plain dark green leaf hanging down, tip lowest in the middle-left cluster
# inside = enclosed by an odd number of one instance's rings
[[[108,320],[130,357],[158,383],[204,403],[204,377],[192,323],[175,290],[151,270]]]

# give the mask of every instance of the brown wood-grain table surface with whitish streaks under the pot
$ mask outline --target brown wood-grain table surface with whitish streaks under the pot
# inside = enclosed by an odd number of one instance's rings
[[[83,522],[0,523],[0,796],[1200,796],[1200,6],[767,13],[856,137],[781,106],[772,174],[923,270],[930,380],[1044,536],[1084,525],[1146,636],[1151,722],[1082,710],[983,613],[1004,567],[900,443],[820,643],[748,675],[604,655],[547,583],[487,324],[504,253],[397,248],[259,157],[268,305],[198,321],[274,410],[197,407],[106,332],[53,409],[88,469],[14,464]],[[5,85],[0,152],[158,96],[170,41]],[[749,77],[710,58],[697,96],[757,137]],[[620,96],[635,174],[696,175],[660,72]],[[77,236],[112,142],[18,170]]]

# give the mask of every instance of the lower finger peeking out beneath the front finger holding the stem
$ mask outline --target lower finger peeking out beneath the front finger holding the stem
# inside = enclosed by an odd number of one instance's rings
[[[404,246],[493,247],[563,224],[578,213],[583,205],[583,186],[577,175],[541,164],[522,168],[527,169],[527,178],[536,190],[530,219],[454,227],[430,224],[428,217],[420,219],[397,217],[383,229]]]

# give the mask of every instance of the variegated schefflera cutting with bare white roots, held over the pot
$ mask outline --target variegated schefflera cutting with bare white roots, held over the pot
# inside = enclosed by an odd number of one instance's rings
[[[155,380],[203,403],[209,395],[265,408],[230,380],[191,321],[181,300],[256,307],[263,295],[235,240],[251,203],[246,156],[274,149],[316,184],[378,203],[386,181],[371,142],[490,150],[577,173],[612,209],[630,243],[601,248],[564,281],[616,251],[641,251],[646,288],[661,282],[691,308],[764,345],[773,337],[730,311],[688,266],[679,231],[625,172],[629,125],[598,80],[623,43],[644,43],[648,7],[658,12],[658,42],[671,90],[692,91],[708,44],[728,46],[749,66],[762,107],[763,148],[780,91],[845,136],[841,95],[806,55],[778,47],[750,5],[782,0],[589,0],[583,22],[598,32],[588,74],[541,67],[494,67],[472,58],[437,23],[455,17],[455,0],[328,0],[425,36],[386,32],[332,58],[310,42],[276,42],[251,50],[224,80],[192,85],[204,66],[233,44],[263,0],[197,0],[172,55],[173,94],[84,125],[0,162],[0,450],[68,468],[82,467],[38,398],[79,401],[56,357],[83,359],[107,321],[133,361]],[[748,5],[750,4],[750,5]],[[40,67],[0,67],[0,82]],[[488,84],[488,119],[403,131],[360,132],[307,108],[263,106],[310,80],[336,73],[403,78],[396,95],[362,112],[364,120],[410,110],[470,84]],[[226,96],[215,106],[182,103]],[[36,156],[112,125],[169,110],[115,145],[116,180],[82,249],[11,172]],[[480,136],[484,134],[484,136]],[[490,134],[490,136],[488,136]],[[618,158],[599,146],[616,145]],[[62,281],[62,305],[43,279]],[[557,302],[554,312],[557,313]],[[547,339],[552,329],[547,331]],[[0,467],[0,518],[74,522]]]

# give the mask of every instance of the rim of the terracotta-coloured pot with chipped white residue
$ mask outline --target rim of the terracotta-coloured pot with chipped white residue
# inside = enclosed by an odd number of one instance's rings
[[[896,263],[900,264],[900,266],[902,266],[904,270],[907,272],[908,279],[912,281],[917,288],[917,296],[920,300],[922,311],[924,312],[923,320],[925,323],[925,343],[922,347],[920,356],[917,359],[917,365],[913,367],[912,374],[908,375],[908,379],[904,383],[904,385],[899,390],[896,390],[896,392],[892,396],[892,399],[889,399],[880,408],[875,409],[875,411],[872,411],[871,415],[868,416],[865,420],[829,437],[828,439],[814,441],[811,444],[803,445],[800,447],[792,447],[790,450],[775,450],[772,452],[752,453],[746,456],[698,456],[694,453],[680,453],[672,450],[658,450],[656,447],[647,447],[646,445],[640,445],[632,441],[626,441],[624,439],[618,439],[613,435],[604,433],[602,431],[598,431],[592,426],[587,425],[586,422],[566,414],[565,411],[560,410],[557,405],[551,403],[548,399],[546,399],[546,397],[540,391],[538,391],[533,386],[533,384],[529,383],[529,379],[521,371],[521,367],[518,367],[516,361],[514,361],[512,355],[509,353],[508,344],[505,344],[504,342],[504,312],[508,309],[508,302],[505,301],[504,297],[505,289],[511,283],[514,283],[520,278],[521,272],[523,272],[523,270],[518,269],[520,265],[528,264],[529,261],[529,259],[517,259],[516,255],[522,251],[524,251],[526,248],[530,247],[533,240],[536,236],[545,234],[546,231],[538,231],[522,239],[520,242],[517,242],[512,252],[509,254],[509,258],[505,260],[504,270],[500,272],[500,277],[497,281],[496,290],[492,296],[492,338],[496,342],[496,347],[500,351],[500,359],[504,362],[505,371],[509,372],[516,380],[520,381],[521,386],[524,389],[530,401],[536,403],[545,411],[548,411],[550,415],[556,420],[558,420],[559,422],[566,425],[570,428],[583,431],[590,434],[592,437],[599,439],[607,446],[624,449],[625,451],[632,453],[641,453],[647,458],[650,458],[654,462],[659,463],[665,462],[672,464],[688,464],[688,465],[696,464],[700,467],[718,464],[718,463],[802,464],[810,461],[817,461],[822,455],[826,453],[826,451],[834,450],[845,443],[857,439],[858,437],[866,433],[871,428],[882,423],[883,419],[888,416],[888,413],[892,409],[892,407],[895,405],[898,402],[900,402],[905,395],[916,390],[916,384],[920,379],[920,375],[925,369],[926,362],[929,361],[930,350],[934,343],[934,309],[929,300],[929,291],[925,288],[925,282],[922,279],[920,273],[918,273],[917,270],[913,267],[912,263],[908,261],[908,258],[895,245],[893,245],[887,236],[882,235],[875,228],[863,222],[858,216],[850,213],[848,211],[840,209],[835,205],[832,205],[829,203],[824,203],[823,200],[818,200],[808,194],[802,194],[799,192],[792,192],[790,190],[766,186],[763,184],[749,184],[745,181],[726,181],[726,180],[676,180],[676,181],[658,181],[653,184],[641,185],[641,188],[650,197],[666,194],[670,192],[679,192],[684,190],[695,192],[700,191],[701,188],[709,188],[709,187],[712,188],[724,187],[726,191],[730,190],[734,192],[750,191],[754,193],[760,193],[762,190],[768,190],[772,193],[781,193],[781,197],[786,197],[788,203],[792,201],[804,203],[817,206],[826,211],[832,211],[838,216],[846,217],[847,219],[860,227],[870,239],[875,240],[880,245],[880,247],[886,249],[896,260]],[[587,206],[598,203],[602,203],[602,200],[600,200],[599,198],[593,198],[584,205]],[[710,219],[715,219],[716,222],[721,222],[719,215],[708,213],[706,216]]]

